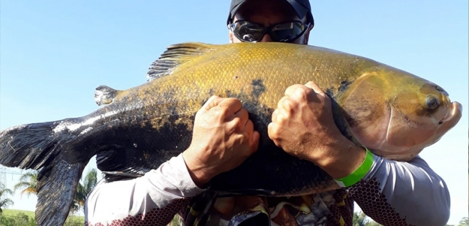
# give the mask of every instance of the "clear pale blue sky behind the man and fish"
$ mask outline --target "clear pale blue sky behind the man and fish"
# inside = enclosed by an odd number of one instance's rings
[[[449,223],[468,216],[468,1],[310,2],[316,22],[310,45],[422,76],[463,104],[459,124],[421,155],[450,188]],[[229,4],[2,1],[0,129],[95,111],[97,86],[122,90],[144,83],[150,63],[168,45],[227,43]],[[7,174],[7,186],[18,177]],[[35,208],[32,196],[13,200],[13,209]]]

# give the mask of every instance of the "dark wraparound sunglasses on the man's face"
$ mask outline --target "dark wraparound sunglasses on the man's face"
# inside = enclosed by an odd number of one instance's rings
[[[259,42],[266,33],[274,42],[293,42],[305,33],[308,24],[296,20],[272,26],[262,26],[246,20],[238,20],[228,24],[228,29],[242,42]]]

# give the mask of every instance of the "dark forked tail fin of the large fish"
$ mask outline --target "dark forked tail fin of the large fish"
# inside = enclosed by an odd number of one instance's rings
[[[36,187],[38,225],[63,225],[86,163],[64,150],[71,133],[54,131],[63,121],[24,124],[0,131],[0,164],[40,170]],[[54,214],[49,214],[53,209]]]

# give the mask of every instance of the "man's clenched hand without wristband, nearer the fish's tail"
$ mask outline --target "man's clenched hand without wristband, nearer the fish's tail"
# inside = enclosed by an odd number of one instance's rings
[[[196,114],[193,137],[182,153],[197,186],[232,170],[251,156],[259,145],[259,133],[239,99],[213,96]]]

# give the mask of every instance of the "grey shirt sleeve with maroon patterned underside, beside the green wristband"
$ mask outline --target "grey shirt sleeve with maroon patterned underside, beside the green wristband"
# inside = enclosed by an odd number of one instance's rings
[[[363,212],[382,225],[445,225],[450,193],[420,156],[407,162],[373,156],[367,175],[349,187]]]

